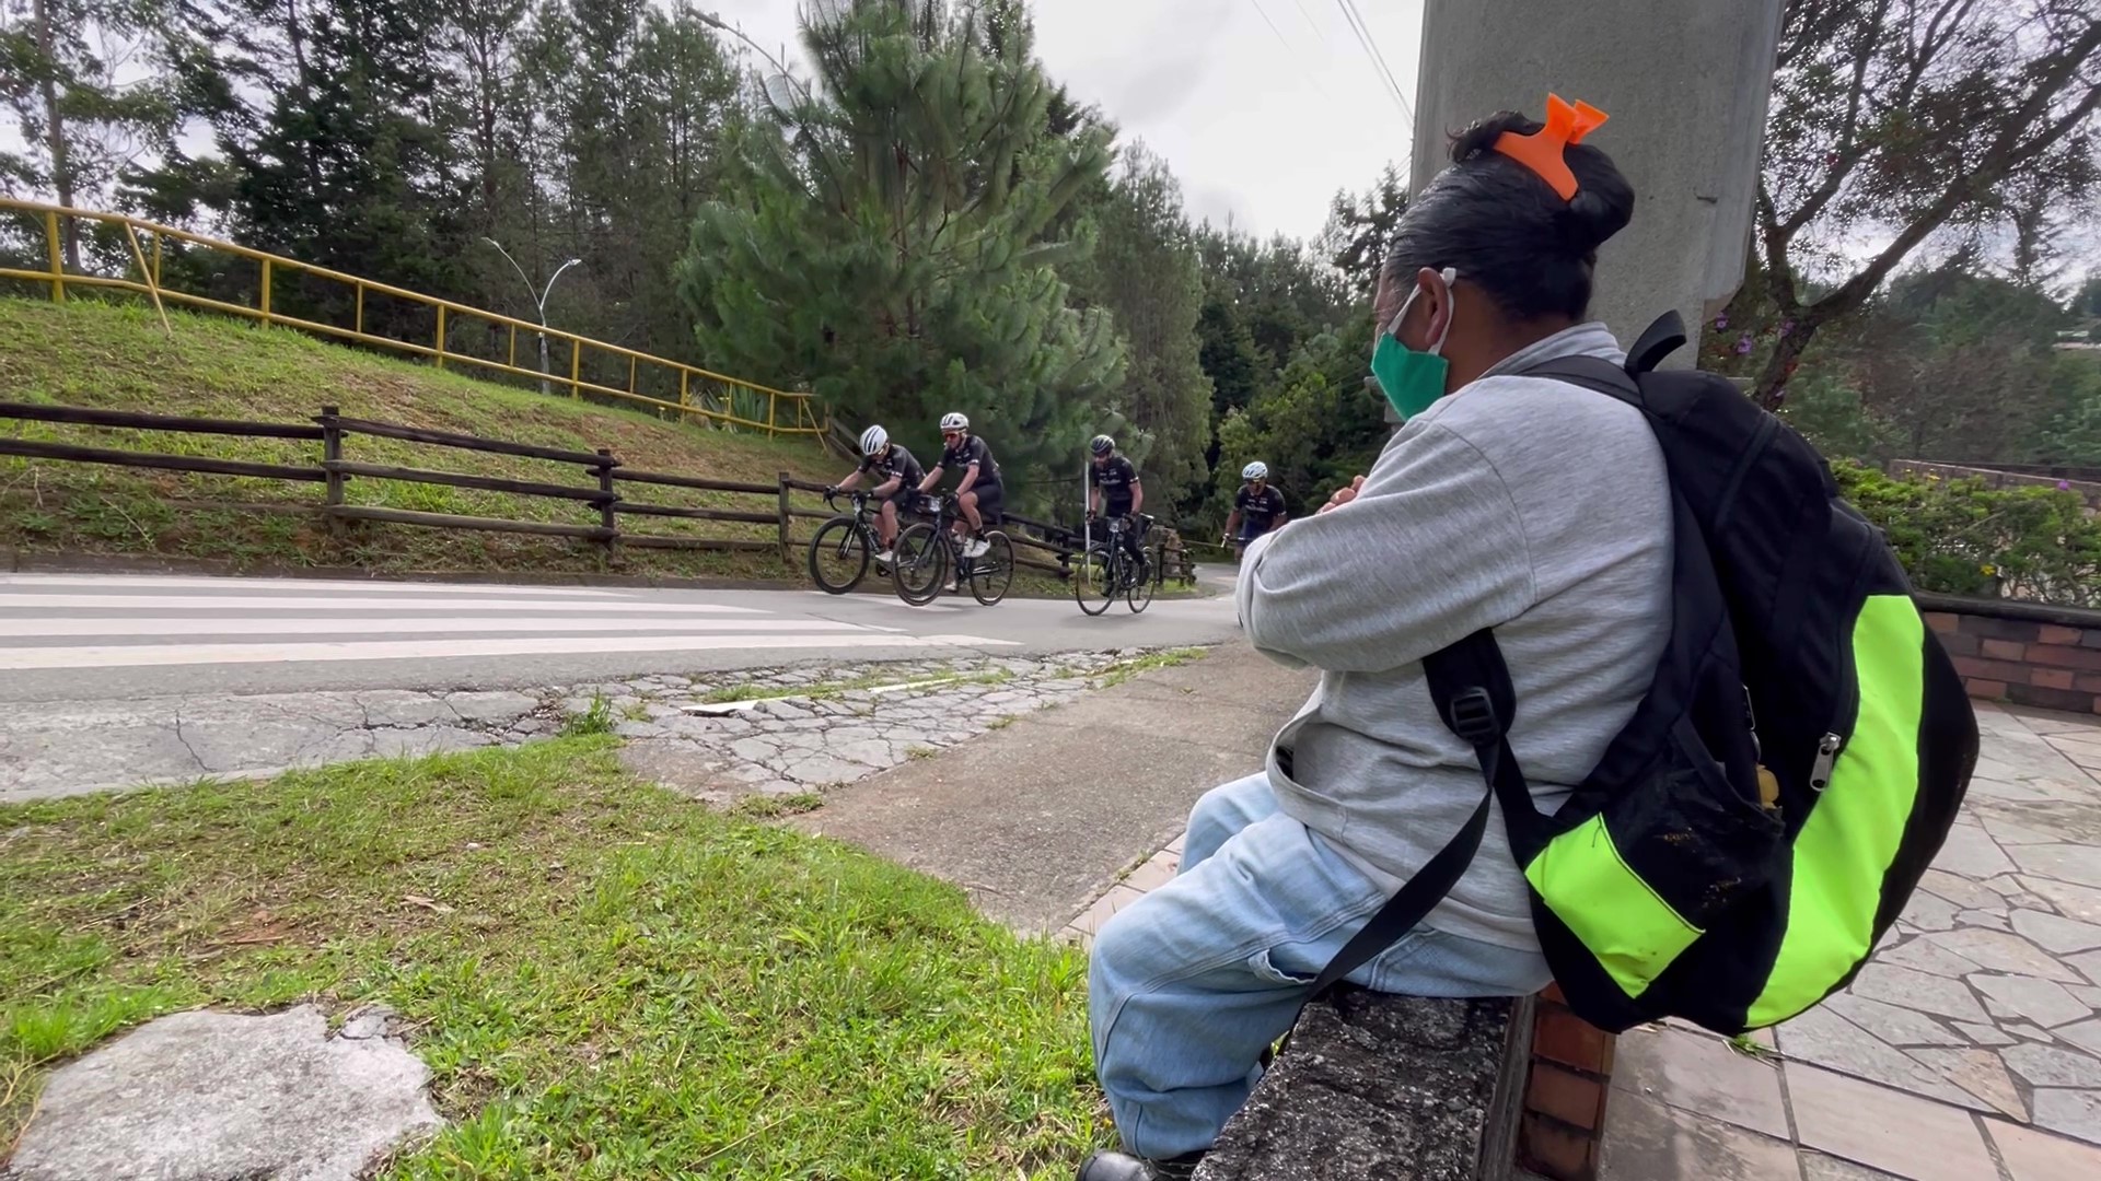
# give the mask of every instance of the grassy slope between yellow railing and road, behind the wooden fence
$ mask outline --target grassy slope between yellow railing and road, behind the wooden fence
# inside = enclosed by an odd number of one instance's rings
[[[828,483],[845,462],[811,439],[769,439],[544,397],[431,366],[378,357],[311,336],[237,319],[170,313],[172,336],[145,307],[50,305],[0,298],[0,401],[38,401],[307,422],[324,403],[355,418],[458,431],[567,450],[611,448],[630,469],[771,483],[782,471]],[[208,454],[313,464],[319,443],[229,439],[168,431],[111,431],[0,420],[0,437],[50,439],[164,454]],[[345,458],[435,471],[466,471],[584,485],[580,467],[452,448],[349,437]],[[416,525],[361,523],[336,538],[313,513],[319,483],[160,473],[103,464],[0,456],[0,544],[29,553],[162,555],[219,559],[240,567],[357,565],[378,572],[609,572],[588,542]],[[630,490],[656,504],[771,511],[771,500],[672,488]],[[353,479],[355,504],[597,523],[580,502]],[[807,498],[800,506],[819,506]],[[651,534],[775,538],[773,525],[628,519]],[[798,534],[807,536],[803,523]],[[800,557],[796,557],[796,563]],[[628,548],[628,574],[790,576],[771,555]]]

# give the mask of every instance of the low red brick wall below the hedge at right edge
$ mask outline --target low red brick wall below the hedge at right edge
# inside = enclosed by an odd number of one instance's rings
[[[2101,612],[1920,595],[1973,698],[2101,714]]]

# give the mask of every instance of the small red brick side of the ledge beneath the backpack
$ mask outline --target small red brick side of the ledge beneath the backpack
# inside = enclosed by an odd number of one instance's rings
[[[1593,1181],[1614,1036],[1569,1011],[1561,986],[1546,986],[1534,1013],[1517,1164],[1548,1181]]]

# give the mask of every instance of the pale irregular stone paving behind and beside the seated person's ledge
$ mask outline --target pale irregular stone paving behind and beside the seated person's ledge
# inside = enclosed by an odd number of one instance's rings
[[[1977,704],[1983,761],[1853,986],[1752,1053],[1620,1038],[1603,1181],[2101,1179],[2101,721]],[[1168,880],[1181,838],[1078,914]]]

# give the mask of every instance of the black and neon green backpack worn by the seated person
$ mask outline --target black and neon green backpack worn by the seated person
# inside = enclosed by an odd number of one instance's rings
[[[1315,992],[1458,883],[1496,799],[1555,981],[1595,1025],[1685,1017],[1735,1034],[1845,988],[1939,853],[1977,763],[1962,679],[1882,534],[1801,435],[1727,378],[1653,372],[1666,315],[1622,370],[1532,368],[1641,410],[1674,509],[1670,641],[1647,698],[1553,815],[1504,738],[1525,704],[1492,633],[1424,660],[1490,790],[1353,937]]]

